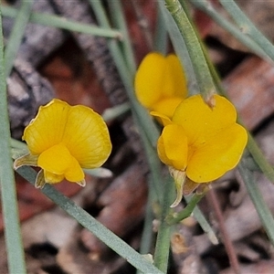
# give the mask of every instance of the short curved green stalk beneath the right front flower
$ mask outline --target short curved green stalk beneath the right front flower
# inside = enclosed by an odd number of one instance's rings
[[[173,215],[167,216],[166,222],[169,225],[174,225],[181,222],[185,218],[191,216],[195,209],[195,206],[200,202],[200,200],[204,197],[204,195],[205,193],[194,194],[189,200],[189,202],[187,203],[187,205],[184,207],[184,209],[181,212],[174,213]]]

